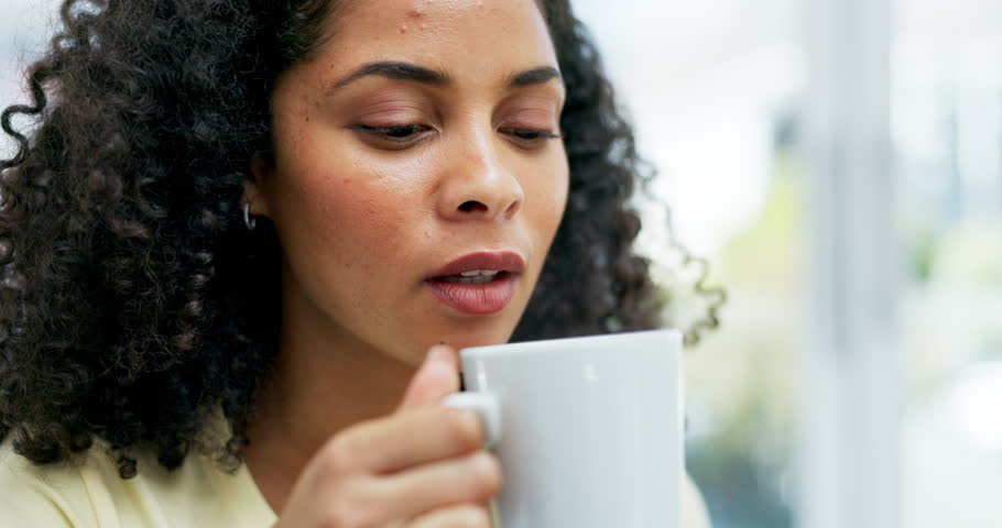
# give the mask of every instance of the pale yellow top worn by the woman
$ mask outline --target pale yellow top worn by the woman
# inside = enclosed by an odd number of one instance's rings
[[[36,466],[0,446],[0,527],[266,528],[276,518],[247,465],[236,474],[193,454],[168,472],[152,458],[122,480],[113,461],[92,449],[83,464]],[[683,528],[709,526],[699,492],[686,480]],[[653,527],[652,527],[653,528]]]

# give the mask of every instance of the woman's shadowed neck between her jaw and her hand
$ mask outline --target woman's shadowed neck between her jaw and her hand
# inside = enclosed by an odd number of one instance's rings
[[[316,452],[339,431],[390,414],[416,370],[285,300],[275,370],[258,397],[244,450],[275,513]]]

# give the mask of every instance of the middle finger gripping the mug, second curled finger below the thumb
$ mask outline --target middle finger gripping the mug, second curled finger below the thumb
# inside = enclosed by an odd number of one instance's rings
[[[427,464],[380,479],[373,499],[388,518],[412,518],[424,512],[465,503],[483,503],[501,491],[501,465],[486,451]]]

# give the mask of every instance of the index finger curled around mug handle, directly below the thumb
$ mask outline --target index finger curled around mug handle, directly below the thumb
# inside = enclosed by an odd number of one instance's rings
[[[432,406],[355,426],[333,440],[329,457],[341,470],[390,473],[470,454],[483,441],[476,413]]]

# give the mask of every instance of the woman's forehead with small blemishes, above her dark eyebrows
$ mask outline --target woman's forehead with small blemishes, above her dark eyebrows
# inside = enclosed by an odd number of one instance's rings
[[[461,79],[557,64],[535,0],[348,0],[327,24],[333,69],[407,59]]]

